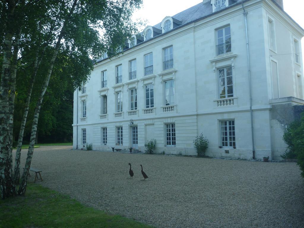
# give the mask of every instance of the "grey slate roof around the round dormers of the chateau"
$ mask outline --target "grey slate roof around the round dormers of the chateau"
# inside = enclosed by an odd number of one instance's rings
[[[247,2],[247,1],[250,1],[250,0],[244,0],[244,2]],[[279,5],[276,2],[277,0],[271,0],[271,1],[274,2],[275,5],[277,5],[278,8],[280,8],[290,19],[292,19],[284,11],[284,9],[282,9],[281,5]],[[233,7],[234,5],[239,5],[239,4],[242,4],[242,1],[240,1],[240,0],[229,0],[229,6],[227,8],[230,8],[230,7]],[[179,12],[178,14],[175,14],[174,16],[171,16],[173,24],[174,24],[173,29],[171,29],[171,31],[173,31],[175,29],[178,29],[178,28],[181,28],[182,26],[185,26],[188,23],[195,22],[195,21],[198,21],[200,19],[203,19],[203,18],[206,18],[208,16],[211,16],[213,14],[222,12],[223,10],[225,10],[227,8],[224,8],[224,9],[221,9],[221,10],[213,12],[212,11],[211,0],[204,0],[203,2],[201,2],[201,3],[197,4],[197,5],[194,5],[194,6],[188,8],[188,9],[182,11],[182,12]],[[142,43],[149,42],[150,40],[153,40],[156,37],[159,37],[159,36],[161,36],[163,34],[167,34],[167,33],[171,32],[171,31],[168,31],[166,33],[162,33],[161,32],[162,31],[161,22],[159,22],[158,24],[152,26],[152,28],[153,28],[153,32],[154,32],[153,38],[144,41],[144,39],[143,39],[143,32],[141,32],[141,33],[139,33],[139,34],[136,35],[136,37],[137,37],[137,44],[135,46],[138,46],[138,45],[140,45]],[[123,51],[128,50],[128,49],[130,49],[128,46],[123,47]],[[104,59],[103,58],[99,58],[99,59],[96,60],[95,63],[101,62],[102,60],[105,60],[105,59],[108,59],[108,58],[109,57],[104,58]]]

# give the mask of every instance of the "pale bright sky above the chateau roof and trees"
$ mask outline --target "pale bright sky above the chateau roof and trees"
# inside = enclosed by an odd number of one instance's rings
[[[147,20],[146,25],[154,26],[161,22],[166,16],[173,16],[185,9],[188,9],[202,0],[143,0],[141,9],[133,14],[133,20]],[[304,1],[283,0],[284,10],[304,28]],[[145,26],[144,26],[145,27]],[[141,29],[143,30],[144,27]],[[302,53],[304,51],[304,38],[302,39]],[[303,56],[303,55],[302,55]],[[302,60],[303,61],[303,60]]]

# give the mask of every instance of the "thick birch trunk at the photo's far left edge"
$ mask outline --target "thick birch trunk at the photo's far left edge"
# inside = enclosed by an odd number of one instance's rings
[[[10,2],[8,21],[5,28],[3,63],[0,87],[0,193],[1,198],[16,195],[16,187],[12,180],[12,141],[10,140],[10,110],[9,110],[9,82],[11,78],[11,56],[13,17],[16,3]]]

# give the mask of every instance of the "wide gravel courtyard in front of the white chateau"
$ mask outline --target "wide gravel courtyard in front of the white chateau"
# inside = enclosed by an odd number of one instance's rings
[[[31,167],[43,170],[43,186],[159,228],[304,227],[304,181],[295,163],[44,146],[35,148]]]

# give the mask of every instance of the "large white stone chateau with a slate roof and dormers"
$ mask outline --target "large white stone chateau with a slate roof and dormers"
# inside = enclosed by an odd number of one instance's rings
[[[304,107],[303,36],[282,0],[204,0],[166,16],[74,92],[73,148],[144,151],[154,138],[156,152],[195,155],[203,133],[206,155],[280,159]]]

